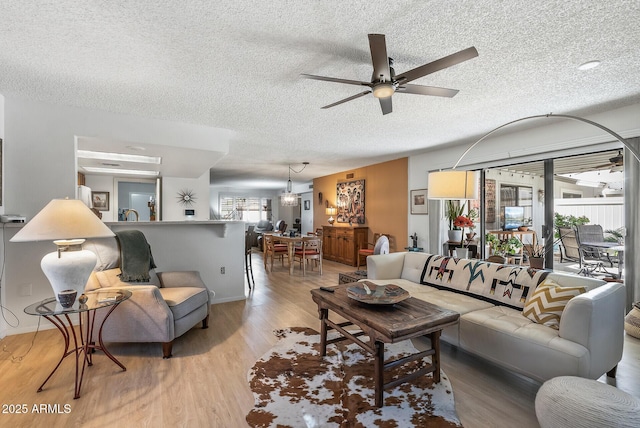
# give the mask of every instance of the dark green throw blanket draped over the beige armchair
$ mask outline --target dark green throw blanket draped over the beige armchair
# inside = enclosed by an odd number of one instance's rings
[[[151,247],[139,230],[116,232],[120,245],[120,270],[123,282],[149,281],[149,269],[156,267],[151,256]]]

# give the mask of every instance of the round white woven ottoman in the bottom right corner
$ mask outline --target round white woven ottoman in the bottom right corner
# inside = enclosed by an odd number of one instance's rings
[[[597,380],[560,376],[536,395],[542,428],[640,427],[640,399]]]

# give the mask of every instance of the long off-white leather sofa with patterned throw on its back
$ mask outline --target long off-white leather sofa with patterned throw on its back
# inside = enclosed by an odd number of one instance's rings
[[[442,340],[541,382],[614,374],[622,358],[625,290],[620,283],[415,252],[369,256],[367,276],[459,312],[460,322],[444,329]],[[588,290],[567,303],[558,330],[522,314],[526,298],[546,279]]]

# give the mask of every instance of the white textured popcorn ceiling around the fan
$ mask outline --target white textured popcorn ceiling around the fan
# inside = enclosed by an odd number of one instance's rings
[[[0,3],[0,93],[233,130],[216,182],[295,181],[469,141],[518,117],[640,101],[640,2],[88,1]],[[372,95],[368,33],[397,73],[475,46],[413,83],[454,98]],[[578,65],[600,60],[598,68]],[[179,143],[177,143],[179,144]],[[282,187],[282,185],[276,184]]]

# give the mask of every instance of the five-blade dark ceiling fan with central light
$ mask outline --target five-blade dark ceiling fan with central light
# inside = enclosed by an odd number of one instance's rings
[[[371,92],[373,96],[380,100],[382,114],[391,113],[391,96],[396,93],[432,95],[436,97],[453,97],[458,93],[456,89],[438,88],[435,86],[412,85],[409,82],[419,79],[436,71],[451,67],[461,62],[478,56],[475,47],[470,47],[449,56],[445,56],[428,64],[421,65],[402,74],[396,75],[393,69],[393,59],[387,56],[387,43],[384,34],[369,34],[369,48],[371,50],[371,62],[373,63],[373,74],[371,82],[361,82],[358,80],[339,79],[335,77],[316,76],[313,74],[301,74],[307,79],[325,80],[327,82],[346,83],[348,85],[367,86],[364,92],[337,101],[333,104],[322,107],[331,108],[347,101],[363,97]]]

